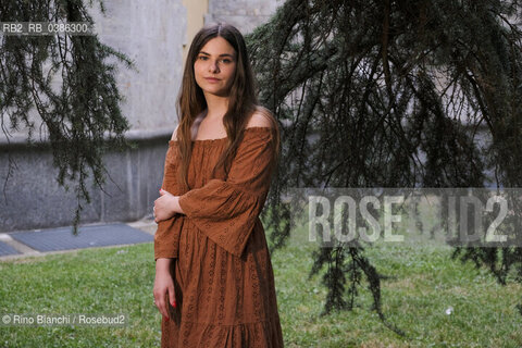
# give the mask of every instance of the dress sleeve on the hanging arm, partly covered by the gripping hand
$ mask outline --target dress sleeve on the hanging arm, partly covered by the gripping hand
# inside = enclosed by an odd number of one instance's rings
[[[177,184],[176,171],[178,166],[177,141],[169,141],[165,156],[162,188],[172,195],[183,194]],[[177,258],[179,234],[184,224],[184,215],[176,213],[167,220],[158,223],[154,234],[154,261],[159,258]]]

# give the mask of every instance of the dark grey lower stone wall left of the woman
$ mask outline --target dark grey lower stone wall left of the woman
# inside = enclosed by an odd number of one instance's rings
[[[161,187],[164,137],[137,140],[138,148],[104,157],[108,169],[103,191],[88,181],[91,203],[82,202],[82,223],[139,220],[152,211]],[[8,182],[9,157],[16,163]],[[46,147],[3,147],[0,151],[0,232],[72,224],[77,200],[74,183],[66,191],[55,179],[51,152]]]

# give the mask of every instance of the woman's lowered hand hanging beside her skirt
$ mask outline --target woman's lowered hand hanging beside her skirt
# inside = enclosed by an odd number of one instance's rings
[[[172,278],[170,268],[174,259],[158,259],[156,261],[156,279],[154,279],[154,303],[163,315],[163,320],[169,320],[169,302],[172,307],[176,307],[176,295],[174,291],[174,281]]]

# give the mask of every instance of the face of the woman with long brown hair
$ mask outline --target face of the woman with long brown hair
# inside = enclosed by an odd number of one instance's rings
[[[221,36],[207,41],[194,63],[196,83],[206,95],[227,97],[235,72],[236,51]]]

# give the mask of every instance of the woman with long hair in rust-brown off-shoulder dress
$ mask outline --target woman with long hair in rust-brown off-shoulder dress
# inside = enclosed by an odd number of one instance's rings
[[[154,202],[154,302],[162,347],[283,347],[259,214],[279,151],[257,105],[244,38],[202,28],[187,57]]]

